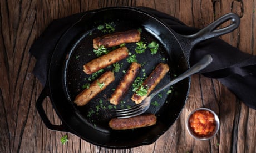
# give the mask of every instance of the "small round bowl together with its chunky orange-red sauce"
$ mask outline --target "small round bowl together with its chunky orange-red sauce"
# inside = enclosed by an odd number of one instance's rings
[[[219,118],[210,109],[196,109],[188,117],[187,129],[196,139],[211,139],[219,130]]]

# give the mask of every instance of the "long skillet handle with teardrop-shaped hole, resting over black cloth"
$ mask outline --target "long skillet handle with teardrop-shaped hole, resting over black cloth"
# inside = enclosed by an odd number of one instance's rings
[[[226,27],[218,28],[228,21],[231,21],[232,23],[230,23]],[[237,14],[228,13],[216,19],[216,21],[210,23],[205,28],[199,30],[199,32],[192,35],[183,35],[183,36],[186,38],[194,39],[193,45],[195,45],[203,40],[219,37],[220,35],[230,33],[233,30],[237,29],[239,25],[240,25],[240,18],[237,16]]]

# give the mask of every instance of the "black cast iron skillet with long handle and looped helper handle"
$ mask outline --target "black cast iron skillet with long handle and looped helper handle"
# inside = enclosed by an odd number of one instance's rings
[[[227,21],[231,21],[227,27],[218,28]],[[86,12],[80,21],[67,30],[52,55],[47,84],[37,100],[38,113],[51,130],[71,132],[92,144],[121,149],[151,144],[173,125],[188,98],[190,78],[171,87],[171,94],[167,95],[167,91],[163,91],[161,96],[153,100],[157,101],[158,106],[152,105],[147,113],[156,114],[156,125],[133,130],[111,130],[108,122],[115,117],[114,110],[134,105],[129,100],[132,94],[130,91],[123,99],[126,103],[122,102],[117,108],[112,108],[113,105],[107,102],[112,89],[124,75],[123,70],[129,67],[126,59],[119,62],[122,67],[119,72],[115,72],[116,79],[107,89],[85,106],[78,107],[73,103],[82,86],[90,82],[91,75],[82,72],[82,65],[96,58],[92,52],[92,39],[107,34],[97,29],[105,23],[112,24],[115,32],[140,28],[143,42],[148,44],[154,40],[159,43],[157,54],[152,55],[147,50],[143,54],[137,54],[137,60],[142,64],[140,77],[143,77],[144,72],[150,74],[160,62],[169,65],[170,72],[159,84],[161,86],[190,67],[189,54],[197,43],[232,32],[239,26],[240,19],[233,13],[226,14],[198,33],[179,35],[154,15],[141,9],[110,7]],[[126,47],[135,54],[135,43],[126,44]],[[113,67],[104,70],[113,70]],[[42,108],[46,96],[50,97],[53,108],[62,121],[61,125],[52,125],[48,120]]]

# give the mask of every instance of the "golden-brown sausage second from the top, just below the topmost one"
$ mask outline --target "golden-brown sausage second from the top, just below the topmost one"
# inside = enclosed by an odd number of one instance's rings
[[[93,59],[90,62],[83,65],[83,72],[86,74],[92,74],[100,69],[103,69],[111,64],[114,64],[129,55],[127,47],[117,48],[110,53],[102,55],[99,58]]]

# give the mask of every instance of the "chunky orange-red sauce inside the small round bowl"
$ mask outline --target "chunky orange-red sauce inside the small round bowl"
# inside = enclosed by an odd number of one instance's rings
[[[189,118],[190,129],[198,136],[206,137],[214,132],[216,123],[213,113],[197,110]]]

